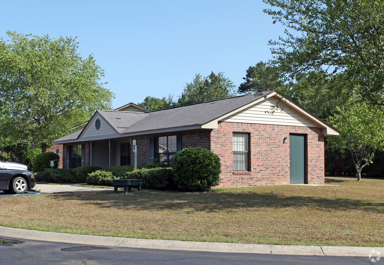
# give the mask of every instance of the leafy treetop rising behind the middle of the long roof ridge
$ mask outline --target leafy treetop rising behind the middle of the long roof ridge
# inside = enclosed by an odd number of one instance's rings
[[[212,72],[207,77],[197,74],[191,83],[187,83],[181,94],[180,106],[235,96],[235,85],[223,72]]]

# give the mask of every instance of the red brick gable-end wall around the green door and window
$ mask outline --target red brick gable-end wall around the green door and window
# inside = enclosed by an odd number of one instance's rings
[[[249,134],[249,170],[233,171],[232,134]],[[211,151],[221,160],[217,187],[244,187],[290,183],[289,134],[305,134],[306,183],[324,184],[324,136],[321,128],[219,122],[211,133]],[[284,137],[288,137],[285,141]]]

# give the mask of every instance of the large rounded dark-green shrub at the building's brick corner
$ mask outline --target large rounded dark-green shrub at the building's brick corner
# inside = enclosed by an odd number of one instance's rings
[[[219,184],[220,158],[208,149],[189,147],[173,157],[174,181],[184,191],[206,191]]]

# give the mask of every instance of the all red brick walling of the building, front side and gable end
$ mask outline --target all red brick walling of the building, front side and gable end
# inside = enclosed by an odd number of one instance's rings
[[[324,183],[324,136],[321,128],[283,126],[268,124],[219,122],[218,129],[192,130],[184,132],[163,133],[147,136],[133,136],[137,146],[137,166],[149,163],[150,137],[155,137],[154,155],[156,156],[159,136],[182,134],[182,148],[203,147],[216,153],[221,160],[222,173],[218,187],[245,187],[290,183],[290,133],[306,135],[306,183]],[[232,134],[249,135],[249,170],[233,171]],[[284,141],[284,137],[288,137]],[[85,144],[84,165],[89,165],[89,142]],[[60,148],[60,167],[66,167],[66,144],[54,145],[49,150]],[[71,159],[70,159],[71,162]],[[131,165],[134,153],[131,152]],[[70,165],[69,165],[70,166]]]

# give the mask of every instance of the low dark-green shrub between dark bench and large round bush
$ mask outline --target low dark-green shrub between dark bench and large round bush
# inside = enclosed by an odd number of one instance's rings
[[[147,189],[175,188],[172,167],[142,168],[127,173],[128,179],[142,179],[142,186]]]

